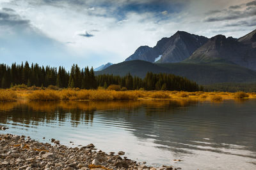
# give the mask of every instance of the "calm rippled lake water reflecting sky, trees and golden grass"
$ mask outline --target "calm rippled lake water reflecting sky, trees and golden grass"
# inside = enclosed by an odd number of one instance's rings
[[[1,133],[93,143],[150,166],[256,169],[256,100],[0,103],[0,124],[10,128]]]

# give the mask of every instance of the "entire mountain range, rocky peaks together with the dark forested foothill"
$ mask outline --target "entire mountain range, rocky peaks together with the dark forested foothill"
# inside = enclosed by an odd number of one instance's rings
[[[256,81],[256,30],[238,39],[178,31],[154,47],[140,46],[124,62],[96,74],[143,77],[148,71],[186,76],[201,84]]]

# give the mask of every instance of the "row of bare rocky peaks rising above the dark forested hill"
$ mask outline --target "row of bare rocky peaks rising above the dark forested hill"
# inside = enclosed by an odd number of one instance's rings
[[[177,31],[170,38],[162,38],[152,47],[140,46],[129,60],[157,63],[175,62],[225,62],[256,70],[256,30],[235,39],[217,35],[204,36]]]

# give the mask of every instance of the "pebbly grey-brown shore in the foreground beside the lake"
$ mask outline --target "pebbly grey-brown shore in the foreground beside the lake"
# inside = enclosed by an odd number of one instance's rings
[[[93,144],[76,148],[51,143],[40,143],[26,136],[0,134],[0,169],[180,169],[173,166],[147,167],[145,162],[136,162],[120,157],[124,152],[105,153]]]

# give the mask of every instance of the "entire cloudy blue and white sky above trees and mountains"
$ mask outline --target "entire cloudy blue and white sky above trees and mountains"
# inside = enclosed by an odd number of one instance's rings
[[[0,63],[97,67],[187,31],[239,38],[256,0],[0,0]]]

